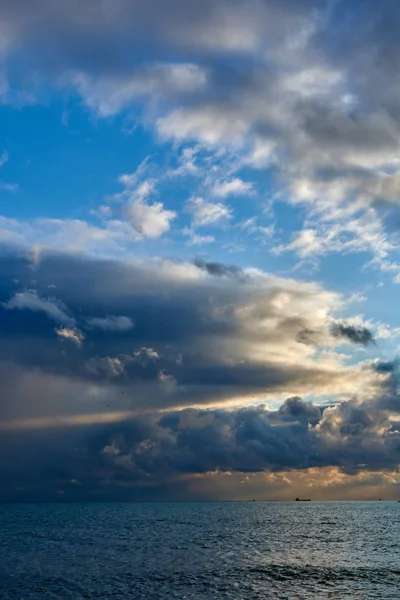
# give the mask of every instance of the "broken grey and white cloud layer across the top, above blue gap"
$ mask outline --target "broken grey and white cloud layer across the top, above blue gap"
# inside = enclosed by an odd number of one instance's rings
[[[89,2],[79,18],[47,0],[37,3],[37,19],[22,0],[4,6],[5,67],[18,64],[27,82],[35,73],[57,90],[67,86],[97,115],[130,111],[163,140],[229,155],[234,167],[215,182],[217,197],[251,190],[241,167],[269,169],[279,198],[306,215],[281,251],[301,259],[369,252],[397,281],[387,227],[400,165],[394,3],[382,2],[375,19],[372,0],[363,10],[320,0],[175,0],[173,10],[160,0],[122,0],[118,10],[110,2],[102,11]],[[190,156],[181,167],[198,169]],[[139,237],[155,238],[168,231],[171,212],[143,200],[126,216]],[[339,229],[320,239],[318,222]]]

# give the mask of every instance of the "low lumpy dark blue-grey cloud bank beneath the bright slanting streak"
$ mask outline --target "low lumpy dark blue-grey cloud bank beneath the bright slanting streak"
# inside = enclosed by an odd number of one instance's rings
[[[400,433],[387,414],[354,401],[321,413],[289,398],[277,411],[186,409],[2,438],[2,499],[49,499],[60,488],[70,499],[165,497],[178,482],[176,498],[180,478],[208,472],[335,466],[355,474],[396,469],[400,461]]]

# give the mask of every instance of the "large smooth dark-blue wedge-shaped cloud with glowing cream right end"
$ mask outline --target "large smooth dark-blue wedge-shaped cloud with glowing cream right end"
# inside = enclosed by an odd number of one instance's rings
[[[304,314],[293,317],[297,299]],[[321,360],[310,362],[300,345],[294,344],[293,356],[275,358],[326,302],[334,296],[315,286],[250,277],[219,263],[45,253],[32,268],[24,256],[6,255],[0,358],[81,380],[155,384],[152,400],[138,397],[139,404],[182,405],[288,387],[297,392],[343,376]],[[254,358],[260,344],[263,355]],[[158,390],[162,383],[167,396]]]

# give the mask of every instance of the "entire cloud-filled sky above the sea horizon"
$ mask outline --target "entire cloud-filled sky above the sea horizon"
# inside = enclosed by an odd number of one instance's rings
[[[400,498],[399,26],[0,0],[0,500]]]

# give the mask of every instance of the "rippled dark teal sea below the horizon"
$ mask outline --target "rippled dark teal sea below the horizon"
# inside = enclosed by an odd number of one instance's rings
[[[0,598],[400,599],[400,503],[0,505]]]

